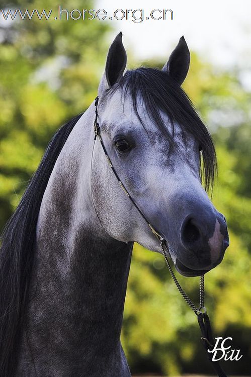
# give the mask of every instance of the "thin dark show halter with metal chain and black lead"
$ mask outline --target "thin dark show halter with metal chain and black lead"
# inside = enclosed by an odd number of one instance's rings
[[[94,120],[94,132],[95,132],[94,140],[97,140],[97,138],[99,139],[99,141],[101,143],[101,146],[103,148],[103,151],[104,151],[104,153],[106,155],[107,162],[108,162],[110,168],[112,169],[114,175],[116,176],[116,178],[117,178],[117,180],[119,182],[119,185],[121,186],[121,189],[124,191],[124,193],[127,196],[127,198],[130,199],[131,203],[134,205],[134,207],[137,209],[137,211],[140,213],[140,215],[146,221],[146,223],[150,227],[152,233],[158,238],[159,243],[160,243],[160,247],[161,247],[164,259],[165,259],[165,263],[168,266],[168,269],[169,269],[170,274],[171,274],[171,276],[172,276],[172,278],[173,278],[173,280],[175,282],[176,287],[178,288],[180,294],[182,295],[182,297],[184,298],[184,300],[186,301],[186,303],[189,305],[189,307],[197,315],[198,323],[199,323],[199,326],[200,326],[200,329],[201,329],[201,335],[202,335],[201,336],[201,340],[202,340],[203,346],[204,346],[204,348],[205,348],[205,350],[207,352],[208,359],[212,363],[212,366],[213,366],[215,372],[218,374],[218,377],[227,377],[227,375],[225,374],[225,372],[221,368],[219,362],[212,360],[213,353],[209,353],[208,352],[208,350],[212,351],[212,349],[214,348],[215,338],[214,338],[214,336],[212,334],[210,320],[209,320],[209,317],[207,315],[206,308],[204,306],[204,275],[201,275],[201,277],[200,277],[200,307],[199,307],[199,309],[197,309],[196,306],[194,305],[194,303],[190,300],[190,298],[187,296],[186,292],[181,287],[179,281],[177,280],[177,278],[176,278],[176,276],[174,274],[174,271],[172,270],[172,267],[171,267],[171,265],[169,263],[169,260],[168,260],[168,256],[170,255],[168,242],[164,239],[164,237],[162,237],[162,235],[160,233],[158,233],[153,228],[153,226],[147,220],[147,218],[145,217],[145,215],[138,208],[138,206],[136,205],[136,203],[134,202],[134,200],[131,198],[130,194],[126,190],[126,188],[123,185],[123,183],[121,182],[121,179],[119,178],[116,170],[113,167],[113,164],[112,164],[112,162],[111,162],[111,160],[110,160],[110,158],[108,156],[108,153],[106,151],[106,147],[105,147],[105,145],[104,145],[104,143],[102,141],[102,138],[100,136],[100,125],[98,123],[98,103],[99,103],[99,96],[96,97],[96,99],[95,99],[95,108],[96,109],[95,109],[95,120]]]

